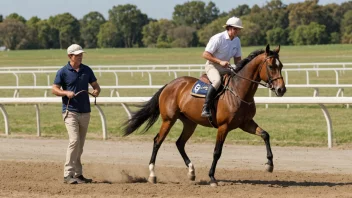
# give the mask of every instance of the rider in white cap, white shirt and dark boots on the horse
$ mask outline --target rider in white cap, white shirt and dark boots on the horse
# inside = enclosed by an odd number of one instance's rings
[[[212,36],[203,52],[203,58],[207,59],[205,72],[211,84],[203,105],[202,117],[210,116],[210,103],[220,87],[221,75],[228,73],[228,68],[231,67],[230,59],[234,57],[235,65],[241,60],[241,41],[237,37],[243,28],[241,19],[231,17],[223,27],[226,31]],[[238,71],[240,68],[234,66],[233,69]]]

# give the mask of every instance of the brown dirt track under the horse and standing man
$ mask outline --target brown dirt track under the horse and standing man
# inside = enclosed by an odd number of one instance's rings
[[[266,173],[263,146],[226,145],[218,163],[219,186],[208,185],[213,144],[188,144],[196,181],[175,144],[163,144],[158,184],[149,184],[152,142],[86,142],[82,161],[92,184],[63,184],[67,140],[0,138],[0,197],[352,197],[352,150],[273,147],[274,172]]]

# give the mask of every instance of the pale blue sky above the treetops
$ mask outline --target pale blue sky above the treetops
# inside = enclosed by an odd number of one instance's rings
[[[41,19],[48,19],[50,16],[71,13],[77,19],[91,11],[98,11],[106,19],[108,12],[113,6],[134,4],[142,13],[153,19],[171,19],[174,7],[184,4],[190,0],[0,0],[0,14],[4,18],[16,12],[25,19],[37,16]],[[206,4],[209,0],[203,0]],[[265,5],[265,0],[212,0],[219,8],[220,12],[228,12],[238,5],[247,4],[252,7],[257,4],[260,7]],[[304,0],[281,0],[284,4],[304,2]],[[329,3],[341,4],[348,0],[319,0],[319,4]]]

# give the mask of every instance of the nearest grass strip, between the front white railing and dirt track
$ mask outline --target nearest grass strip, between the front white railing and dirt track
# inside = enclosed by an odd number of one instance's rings
[[[121,138],[121,124],[127,119],[123,108],[119,105],[106,105],[102,109],[107,118],[109,138]],[[36,135],[35,108],[32,105],[7,105],[10,131],[13,135]],[[59,105],[42,105],[41,130],[44,137],[67,137],[62,121]],[[343,106],[328,106],[333,123],[334,144],[349,145],[352,140],[351,124],[347,118],[352,117],[352,110]],[[327,146],[326,121],[318,105],[264,105],[257,108],[254,119],[259,126],[271,135],[273,145],[278,146]],[[160,120],[146,133],[134,133],[152,141],[159,130]],[[0,119],[3,134],[3,120]],[[175,142],[182,131],[182,123],[177,122],[170,131],[167,141]],[[214,142],[216,129],[198,126],[191,138],[192,142]],[[88,138],[101,139],[102,129],[98,111],[92,106],[92,118],[89,125]],[[264,144],[258,136],[248,134],[240,129],[229,133],[227,143],[230,144]]]

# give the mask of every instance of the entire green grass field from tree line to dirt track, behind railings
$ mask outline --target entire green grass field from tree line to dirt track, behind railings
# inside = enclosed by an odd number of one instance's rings
[[[264,48],[248,47],[243,48],[246,56],[251,51]],[[190,49],[97,49],[87,50],[84,63],[88,65],[135,65],[135,64],[202,64],[204,60],[201,53],[204,48]],[[0,52],[0,67],[3,66],[59,66],[67,62],[65,50],[33,50],[33,51],[9,51]],[[295,62],[352,62],[351,45],[322,45],[322,46],[282,46],[280,58],[283,64]],[[53,81],[55,74],[50,76]],[[114,85],[113,74],[97,74],[101,85]],[[178,73],[178,76],[188,75],[188,73]],[[192,76],[199,76],[199,73],[192,73]],[[46,75],[38,75],[37,85],[47,85]],[[289,74],[290,84],[304,84],[305,73],[293,72]],[[173,79],[173,76],[153,75],[153,84],[166,84]],[[319,77],[315,73],[310,73],[311,83],[334,83],[335,74],[333,72],[320,72]],[[351,84],[352,73],[340,74],[340,83]],[[120,85],[141,85],[148,84],[147,75],[141,74],[119,75]],[[15,85],[13,75],[0,74],[0,85]],[[20,85],[33,85],[32,75],[20,75]],[[151,96],[156,90],[119,90],[121,96]],[[337,89],[320,89],[321,96],[335,96]],[[13,91],[1,90],[1,97],[12,97]],[[109,96],[109,90],[103,90],[101,96]],[[20,97],[43,96],[43,91],[27,90],[21,91]],[[312,96],[312,89],[292,88],[285,96]],[[352,90],[345,89],[345,96],[352,96]],[[256,96],[268,96],[268,90],[259,89]],[[66,130],[62,123],[59,105],[41,106],[42,134],[47,137],[66,137]],[[119,105],[106,105],[102,109],[107,117],[108,133],[110,138],[120,138],[120,124],[126,120],[127,116]],[[28,105],[7,105],[6,110],[10,119],[10,131],[14,136],[35,135],[35,109]],[[352,143],[352,133],[350,129],[351,108],[343,105],[328,106],[334,130],[334,143],[341,146]],[[326,146],[326,122],[318,105],[270,105],[265,109],[264,105],[258,105],[255,121],[266,129],[272,138],[274,145],[303,145],[303,146]],[[157,122],[151,130],[140,138],[152,139],[158,131],[160,123]],[[3,134],[4,121],[0,117],[0,133]],[[180,135],[182,126],[176,123],[170,132],[167,140],[175,141]],[[101,123],[97,110],[92,107],[92,119],[89,128],[88,138],[101,138]],[[198,127],[191,141],[215,141],[216,130]],[[259,137],[249,135],[241,130],[231,132],[227,138],[227,143],[240,144],[263,144]]]

